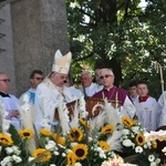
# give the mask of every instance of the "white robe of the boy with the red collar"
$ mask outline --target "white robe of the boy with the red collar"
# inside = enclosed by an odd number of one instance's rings
[[[142,123],[142,126],[147,131],[155,131],[157,128],[157,102],[154,97],[148,96],[146,102],[141,102],[137,98],[134,102],[136,107],[136,115],[138,116],[138,121]]]

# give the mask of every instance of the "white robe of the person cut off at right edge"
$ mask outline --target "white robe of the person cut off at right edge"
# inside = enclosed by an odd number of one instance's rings
[[[159,122],[158,127],[166,125],[166,91],[159,96],[158,98],[158,105],[159,105]]]

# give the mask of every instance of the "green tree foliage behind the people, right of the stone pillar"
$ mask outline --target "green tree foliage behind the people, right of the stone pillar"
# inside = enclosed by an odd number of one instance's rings
[[[146,80],[151,94],[160,94],[157,61],[165,71],[165,0],[65,0],[73,75],[110,66],[127,89],[132,79]],[[116,64],[115,64],[116,62]],[[117,65],[120,64],[120,65]],[[166,75],[164,75],[166,79]]]

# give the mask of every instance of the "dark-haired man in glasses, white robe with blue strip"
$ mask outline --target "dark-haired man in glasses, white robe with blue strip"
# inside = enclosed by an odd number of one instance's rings
[[[33,70],[30,74],[30,84],[31,87],[21,95],[20,103],[22,103],[22,97],[28,94],[30,98],[30,103],[34,104],[34,97],[35,97],[35,90],[37,86],[43,81],[43,73],[40,70]]]

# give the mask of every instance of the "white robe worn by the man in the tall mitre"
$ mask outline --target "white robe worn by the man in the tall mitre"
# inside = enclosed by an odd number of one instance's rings
[[[63,86],[62,89],[65,98],[63,100],[64,103],[70,103],[72,101],[77,100],[77,97],[73,96],[70,93],[69,87]],[[41,127],[41,121],[46,118],[50,123],[54,122],[54,112],[55,108],[60,104],[60,98],[62,94],[59,91],[59,87],[55,86],[50,79],[45,79],[44,82],[40,83],[35,91],[35,127],[37,131]]]

